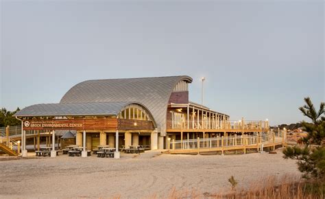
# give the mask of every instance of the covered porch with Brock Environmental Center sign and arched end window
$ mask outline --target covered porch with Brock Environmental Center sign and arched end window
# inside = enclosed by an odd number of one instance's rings
[[[152,115],[136,103],[36,104],[24,108],[16,117],[22,121],[23,156],[27,156],[26,131],[30,130],[51,133],[51,157],[59,150],[55,148],[56,130],[74,130],[75,145],[83,157],[100,146],[114,148],[114,157],[119,159],[121,150],[140,145],[155,150],[158,145]]]

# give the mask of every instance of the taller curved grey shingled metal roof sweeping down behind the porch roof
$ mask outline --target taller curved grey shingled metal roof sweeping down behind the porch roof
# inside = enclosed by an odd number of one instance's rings
[[[139,102],[150,111],[161,135],[166,133],[169,97],[178,82],[192,82],[186,75],[157,78],[88,80],[73,86],[60,103]]]

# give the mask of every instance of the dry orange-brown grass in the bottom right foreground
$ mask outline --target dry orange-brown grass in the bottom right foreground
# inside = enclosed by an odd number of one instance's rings
[[[219,193],[200,193],[198,190],[177,191],[173,188],[167,197],[163,198],[222,198],[222,199],[324,199],[324,182],[304,181],[291,176],[277,179],[268,176],[261,181],[252,183],[249,189],[240,191],[224,191]],[[149,198],[162,198],[156,195]]]

